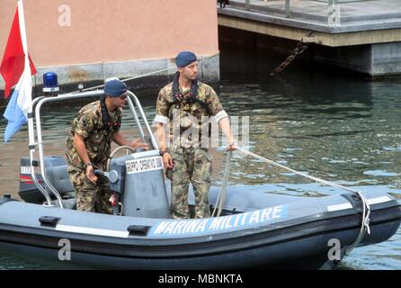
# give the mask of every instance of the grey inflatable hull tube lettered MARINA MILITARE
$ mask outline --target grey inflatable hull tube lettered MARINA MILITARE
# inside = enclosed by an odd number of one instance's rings
[[[332,248],[330,240],[338,239],[344,251],[361,230],[361,207],[356,201],[349,202],[352,208],[338,204],[345,202],[343,195],[302,202],[299,197],[251,193],[247,195],[248,200],[264,205],[259,199],[262,196],[276,206],[254,210],[250,204],[250,211],[233,209],[237,196],[238,193],[228,195],[224,207],[226,216],[209,220],[120,217],[3,202],[0,204],[0,249],[50,261],[56,267],[318,269],[330,268],[339,262],[328,257]],[[378,199],[387,201],[378,202]],[[368,200],[376,203],[371,205],[370,234],[365,234],[360,246],[387,240],[401,222],[400,202],[386,193],[370,193]],[[342,205],[344,209],[327,211],[327,207],[333,210]],[[275,211],[278,212],[275,214]],[[264,222],[256,218],[260,215],[266,216],[263,216]],[[43,217],[50,220],[53,217],[57,222],[40,222]],[[242,226],[241,221],[245,223]],[[70,253],[67,258],[63,257],[66,239]]]

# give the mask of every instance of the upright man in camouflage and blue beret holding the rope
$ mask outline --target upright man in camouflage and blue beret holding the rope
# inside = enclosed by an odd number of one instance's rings
[[[227,112],[223,110],[215,91],[197,79],[197,59],[192,52],[183,51],[176,58],[178,72],[173,83],[160,90],[156,105],[157,133],[160,154],[166,176],[172,183],[172,217],[189,218],[188,188],[190,182],[195,194],[195,218],[210,216],[209,188],[212,173],[211,156],[205,143],[205,128],[209,123],[205,117],[213,116],[228,139],[228,149],[236,148],[229,127]],[[167,149],[170,131],[165,125],[178,130],[178,139]],[[187,133],[191,131],[190,133]],[[187,134],[185,137],[183,137]],[[207,135],[208,133],[206,133]],[[173,132],[173,136],[176,136]],[[207,135],[209,136],[209,135]]]

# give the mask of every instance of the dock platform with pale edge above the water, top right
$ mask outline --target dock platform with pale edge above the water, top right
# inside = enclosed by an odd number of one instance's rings
[[[316,60],[373,77],[401,75],[399,0],[230,0],[218,25],[315,43]]]

